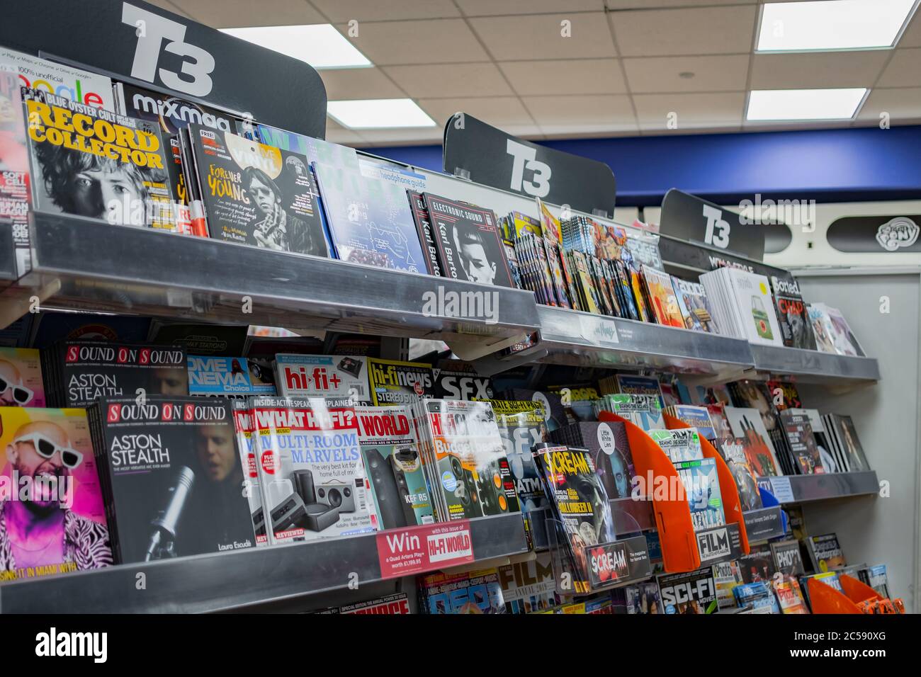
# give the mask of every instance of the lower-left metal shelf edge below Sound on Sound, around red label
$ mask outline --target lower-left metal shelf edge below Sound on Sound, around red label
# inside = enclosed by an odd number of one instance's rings
[[[520,513],[471,519],[469,525],[476,561],[528,552]],[[0,612],[206,613],[347,589],[350,581],[361,586],[381,579],[377,535],[10,582],[0,585]],[[140,574],[145,589],[138,589]]]

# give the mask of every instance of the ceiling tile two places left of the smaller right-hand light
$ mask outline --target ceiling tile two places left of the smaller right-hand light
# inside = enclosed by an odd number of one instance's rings
[[[523,97],[521,100],[544,134],[636,131],[630,97],[624,94]]]

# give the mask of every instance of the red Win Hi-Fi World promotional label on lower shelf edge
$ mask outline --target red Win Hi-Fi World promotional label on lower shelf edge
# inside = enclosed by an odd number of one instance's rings
[[[379,531],[381,578],[399,578],[473,561],[470,521]]]

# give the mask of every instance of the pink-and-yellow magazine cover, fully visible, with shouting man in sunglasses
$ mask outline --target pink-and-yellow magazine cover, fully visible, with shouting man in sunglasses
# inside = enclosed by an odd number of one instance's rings
[[[0,582],[112,563],[83,409],[0,408]]]

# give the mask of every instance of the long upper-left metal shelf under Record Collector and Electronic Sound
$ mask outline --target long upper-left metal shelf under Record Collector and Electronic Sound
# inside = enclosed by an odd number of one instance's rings
[[[32,271],[18,288],[27,294],[50,290],[41,300],[56,306],[193,321],[206,313],[214,322],[454,338],[480,344],[485,353],[538,327],[530,291],[75,216],[34,212],[29,228]],[[444,303],[451,298],[482,301],[479,315],[464,313],[462,303],[451,309]]]

